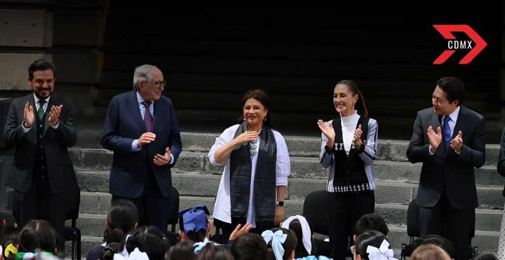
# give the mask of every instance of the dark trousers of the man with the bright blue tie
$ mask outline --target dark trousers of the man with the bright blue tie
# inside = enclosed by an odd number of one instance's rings
[[[462,191],[463,192],[463,191]],[[421,236],[436,234],[449,239],[454,245],[455,260],[468,259],[471,234],[475,230],[475,209],[452,208],[445,190],[438,203],[431,208],[419,209],[419,231]]]

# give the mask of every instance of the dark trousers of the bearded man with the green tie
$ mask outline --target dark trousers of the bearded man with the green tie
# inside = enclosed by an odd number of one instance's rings
[[[49,222],[58,233],[58,251],[65,250],[65,218],[67,217],[68,191],[53,193],[47,177],[32,180],[26,192],[15,194],[19,199],[19,226],[24,227],[33,219]]]

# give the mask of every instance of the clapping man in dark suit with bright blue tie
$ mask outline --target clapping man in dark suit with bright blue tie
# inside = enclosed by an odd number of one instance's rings
[[[485,119],[464,107],[464,98],[463,82],[440,79],[433,107],[417,113],[407,149],[410,162],[423,163],[417,194],[421,236],[446,236],[455,246],[456,260],[468,259],[478,206],[474,167],[486,159]]]

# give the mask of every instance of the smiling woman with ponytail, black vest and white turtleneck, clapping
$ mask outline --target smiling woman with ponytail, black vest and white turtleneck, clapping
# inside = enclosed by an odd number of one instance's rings
[[[345,259],[348,241],[354,244],[356,222],[374,212],[371,164],[377,151],[377,121],[368,118],[363,95],[353,81],[335,86],[333,104],[339,115],[328,122],[318,120],[323,132],[320,159],[325,168],[330,167],[326,189],[331,198],[331,256]]]

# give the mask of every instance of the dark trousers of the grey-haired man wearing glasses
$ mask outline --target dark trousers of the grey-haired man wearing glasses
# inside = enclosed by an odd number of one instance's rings
[[[149,168],[144,191],[138,198],[127,198],[113,194],[112,203],[117,200],[133,202],[138,210],[139,226],[155,226],[167,232],[170,216],[170,197],[163,197],[153,169]]]

